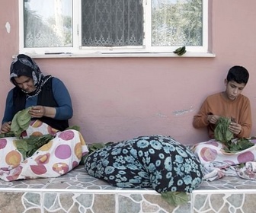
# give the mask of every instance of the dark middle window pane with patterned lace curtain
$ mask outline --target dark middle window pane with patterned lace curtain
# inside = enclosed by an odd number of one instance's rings
[[[142,0],[83,0],[82,46],[142,46]]]

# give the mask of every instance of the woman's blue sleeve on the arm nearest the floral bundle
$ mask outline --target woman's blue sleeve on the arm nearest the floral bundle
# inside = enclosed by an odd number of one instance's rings
[[[55,119],[71,119],[73,116],[72,100],[65,84],[59,78],[53,78],[53,95],[58,103]]]

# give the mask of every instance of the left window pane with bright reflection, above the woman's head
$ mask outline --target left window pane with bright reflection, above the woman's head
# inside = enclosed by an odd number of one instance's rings
[[[24,1],[24,47],[72,46],[70,0]]]

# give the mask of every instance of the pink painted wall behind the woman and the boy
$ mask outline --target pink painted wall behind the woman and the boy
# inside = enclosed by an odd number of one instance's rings
[[[12,87],[11,56],[18,54],[17,2],[3,0],[0,8],[0,115]],[[206,140],[206,129],[193,128],[193,116],[207,95],[225,89],[224,78],[232,65],[250,72],[243,94],[251,99],[256,121],[256,1],[210,2],[215,58],[36,59],[45,74],[61,78],[69,88],[75,110],[71,124],[81,127],[85,141],[152,134],[171,135],[183,144]]]

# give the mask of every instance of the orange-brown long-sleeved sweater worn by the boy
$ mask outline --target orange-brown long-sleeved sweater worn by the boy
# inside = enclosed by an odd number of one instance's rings
[[[210,138],[214,138],[215,125],[210,124],[206,116],[212,113],[216,116],[223,116],[235,118],[242,126],[242,131],[238,138],[248,138],[251,136],[251,103],[248,97],[240,94],[235,100],[227,100],[222,96],[222,93],[213,94],[204,100],[199,112],[194,116],[194,128],[201,128],[207,126]]]

